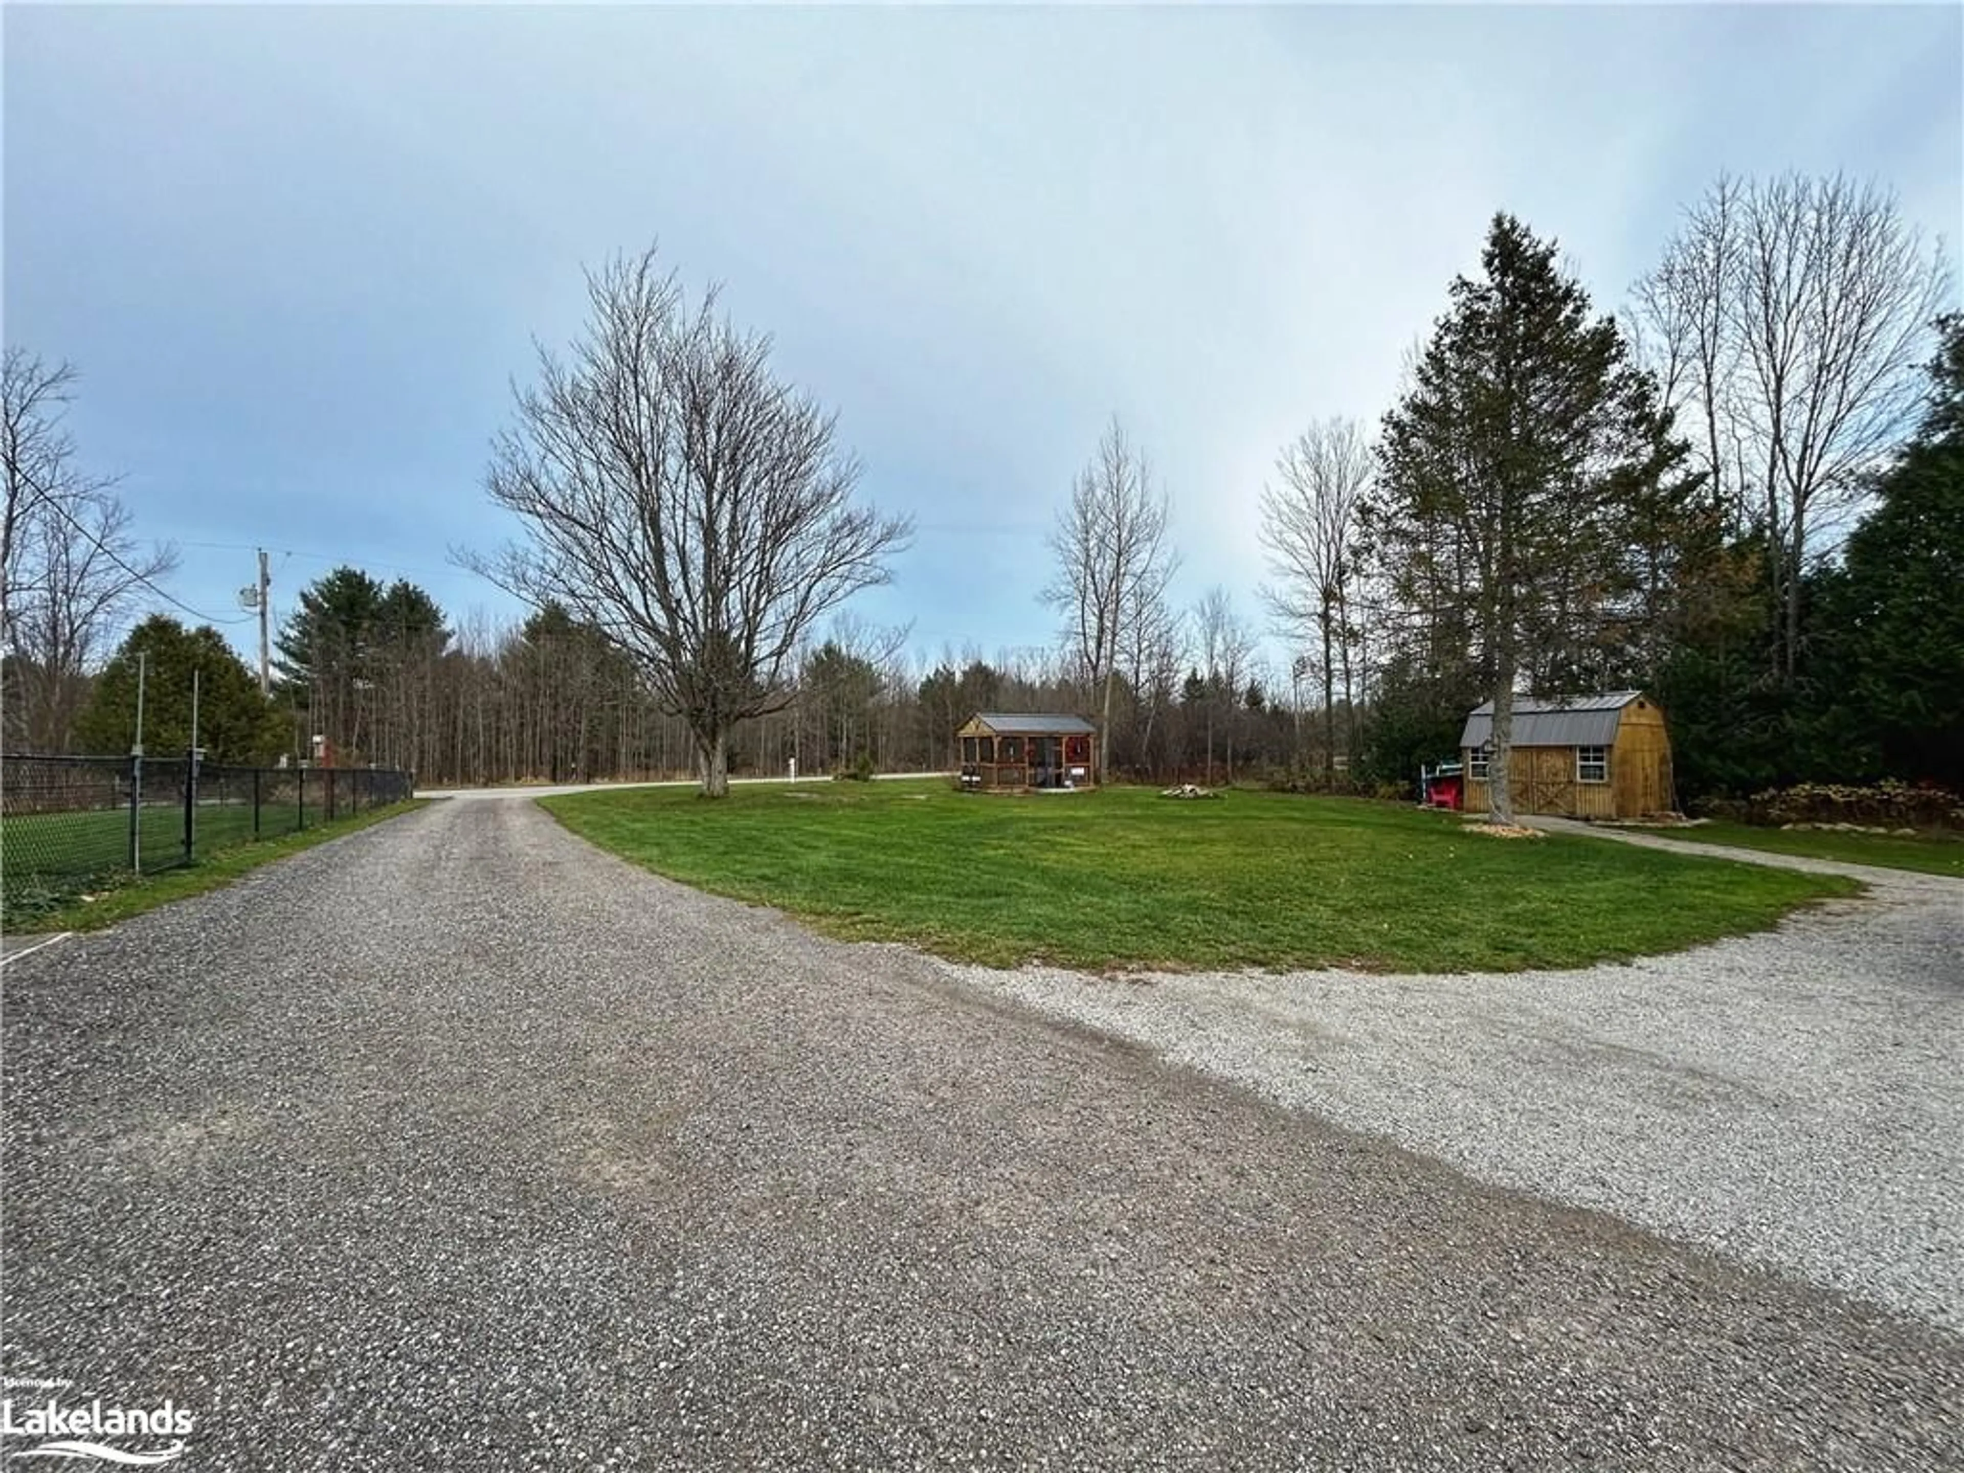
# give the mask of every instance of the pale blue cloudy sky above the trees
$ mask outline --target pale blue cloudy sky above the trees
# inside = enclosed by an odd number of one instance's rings
[[[1255,617],[1279,446],[1387,409],[1499,208],[1603,308],[1720,171],[1876,177],[1954,259],[1960,79],[1956,6],[6,6],[4,328],[185,603],[265,546],[279,613],[354,562],[501,617],[446,550],[507,536],[511,377],[658,240],[915,517],[860,613],[994,654],[1112,414],[1180,597]]]

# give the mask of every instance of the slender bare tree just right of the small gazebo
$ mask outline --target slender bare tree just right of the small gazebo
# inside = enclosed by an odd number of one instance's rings
[[[1114,416],[1070,487],[1070,505],[1057,515],[1057,577],[1043,591],[1043,601],[1064,613],[1064,642],[1100,691],[1100,776],[1112,756],[1119,656],[1139,642],[1143,625],[1165,617],[1167,581],[1178,566],[1167,546],[1167,511],[1145,454]]]

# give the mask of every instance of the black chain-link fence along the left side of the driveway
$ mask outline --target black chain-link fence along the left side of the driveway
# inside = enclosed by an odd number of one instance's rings
[[[118,874],[191,864],[414,791],[393,768],[226,768],[134,756],[0,758],[0,901],[61,903]]]

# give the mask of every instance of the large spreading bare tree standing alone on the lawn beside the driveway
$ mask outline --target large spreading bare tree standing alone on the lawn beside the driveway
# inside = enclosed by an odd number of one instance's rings
[[[909,522],[854,505],[835,416],[772,371],[770,338],[691,308],[654,249],[587,273],[589,322],[493,448],[491,499],[530,532],[462,554],[518,597],[601,628],[687,721],[703,793],[736,723],[791,699],[797,652],[888,579]]]

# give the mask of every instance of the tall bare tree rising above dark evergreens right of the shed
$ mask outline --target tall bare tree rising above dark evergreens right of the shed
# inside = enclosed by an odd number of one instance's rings
[[[1766,540],[1775,680],[1799,660],[1807,560],[1909,424],[1948,291],[1940,247],[1844,175],[1718,179],[1636,285],[1715,507]]]

